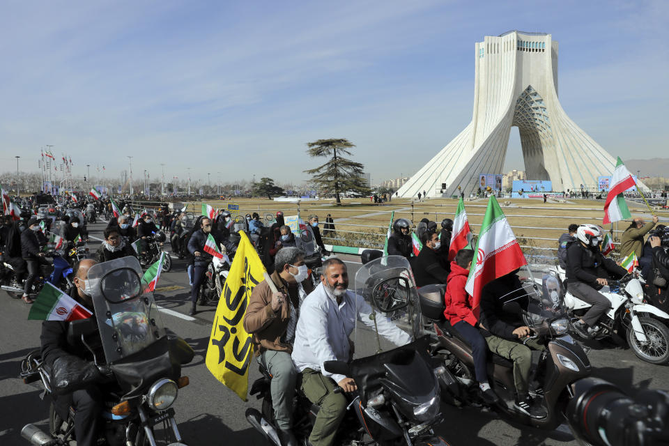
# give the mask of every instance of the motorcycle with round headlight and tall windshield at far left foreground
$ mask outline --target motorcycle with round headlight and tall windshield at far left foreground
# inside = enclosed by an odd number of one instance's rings
[[[101,414],[105,423],[100,433],[105,445],[155,446],[153,427],[162,423],[164,443],[174,440],[169,446],[185,446],[173,406],[178,390],[189,383],[187,376],[181,376],[181,366],[192,360],[194,351],[183,339],[165,330],[153,293],[143,293],[141,275],[139,263],[132,256],[92,266],[88,280],[93,284],[95,316],[69,323],[68,344],[85,347],[106,378],[104,383],[97,383],[105,401]],[[105,360],[96,348],[100,344]],[[21,364],[24,383],[41,380],[49,396],[57,392],[54,373],[40,357],[39,349],[29,353]],[[52,401],[49,433],[26,424],[21,435],[33,445],[69,445],[75,440],[74,417],[72,408],[67,414],[59,413]]]

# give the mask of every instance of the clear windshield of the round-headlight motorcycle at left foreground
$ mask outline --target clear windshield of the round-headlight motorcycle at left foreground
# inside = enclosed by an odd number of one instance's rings
[[[153,292],[142,293],[146,285],[134,256],[96,263],[89,269],[86,291],[93,299],[109,363],[143,350],[164,335]]]

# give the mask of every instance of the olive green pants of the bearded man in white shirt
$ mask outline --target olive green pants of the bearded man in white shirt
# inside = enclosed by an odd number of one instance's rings
[[[304,369],[298,376],[298,385],[312,403],[320,406],[316,422],[309,436],[309,443],[314,446],[330,446],[341,420],[346,415],[346,397],[333,393],[337,383],[313,369]]]

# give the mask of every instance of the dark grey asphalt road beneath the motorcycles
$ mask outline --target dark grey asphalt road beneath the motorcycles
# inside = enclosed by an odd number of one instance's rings
[[[101,238],[103,224],[91,225],[91,236]],[[91,250],[97,249],[93,240]],[[355,257],[349,261],[351,277],[360,263]],[[359,259],[357,259],[359,262]],[[190,385],[180,390],[176,402],[176,419],[188,445],[263,445],[261,436],[247,424],[247,407],[259,408],[259,401],[241,401],[220,384],[206,369],[204,355],[209,341],[215,308],[204,307],[194,318],[187,316],[189,303],[185,302],[189,286],[185,261],[174,260],[171,272],[160,277],[156,300],[164,309],[164,324],[185,338],[197,352],[194,361],[187,364],[184,374]],[[25,385],[17,378],[20,361],[39,346],[40,323],[27,321],[29,307],[20,300],[0,293],[3,311],[0,312],[2,332],[0,348],[0,445],[24,445],[19,432],[24,424],[33,422],[44,426],[48,404],[40,401],[38,384]],[[629,350],[593,349],[588,354],[594,374],[611,380],[624,389],[669,389],[669,367],[640,362]],[[259,376],[251,368],[251,380]],[[443,406],[445,422],[439,433],[451,445],[576,445],[567,430],[553,432],[511,426],[494,413],[479,410],[456,410]]]

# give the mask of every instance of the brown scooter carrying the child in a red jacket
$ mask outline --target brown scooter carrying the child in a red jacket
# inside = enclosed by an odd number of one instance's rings
[[[544,280],[548,278],[544,277]],[[445,287],[427,285],[418,290],[423,316],[433,328],[432,354],[440,358],[445,367],[445,373],[440,377],[443,395],[445,401],[455,406],[481,406],[486,403],[479,397],[475,382],[472,349],[444,317]],[[527,308],[521,309],[518,302],[512,301],[504,305],[504,310],[522,316],[532,332],[528,339],[537,339],[544,346],[535,364],[532,380],[535,388],[532,391],[530,385],[530,394],[541,399],[546,416],[530,417],[514,408],[516,387],[512,361],[489,353],[488,376],[493,391],[499,397],[494,410],[523,424],[555,429],[565,420],[567,405],[574,395],[574,383],[590,376],[591,366],[583,348],[567,334],[567,314],[560,307],[555,307],[545,295],[539,295],[537,288],[534,283],[525,283],[520,290],[526,293],[521,298],[530,298]]]

